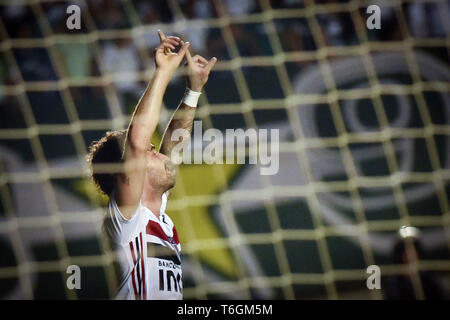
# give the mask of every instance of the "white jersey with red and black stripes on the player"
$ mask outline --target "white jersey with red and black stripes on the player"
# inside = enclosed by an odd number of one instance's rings
[[[118,299],[182,299],[181,246],[166,203],[163,194],[159,219],[139,202],[127,220],[111,195],[103,226],[118,253]]]

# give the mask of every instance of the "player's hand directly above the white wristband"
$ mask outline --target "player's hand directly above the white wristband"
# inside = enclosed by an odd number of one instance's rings
[[[209,73],[216,64],[217,58],[213,57],[208,61],[198,54],[192,57],[189,50],[186,51],[185,58],[188,69],[187,80],[189,89],[200,92],[208,81]]]

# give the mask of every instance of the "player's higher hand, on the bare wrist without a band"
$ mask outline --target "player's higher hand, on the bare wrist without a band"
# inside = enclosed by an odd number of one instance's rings
[[[155,64],[156,68],[167,72],[174,72],[183,60],[186,51],[189,49],[190,43],[183,42],[178,37],[167,37],[158,30],[158,36],[161,43],[156,48],[155,52]],[[173,52],[177,47],[181,45],[178,52]]]

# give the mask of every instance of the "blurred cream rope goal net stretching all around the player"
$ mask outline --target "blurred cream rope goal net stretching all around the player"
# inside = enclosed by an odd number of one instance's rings
[[[71,5],[79,29],[69,29]],[[415,274],[449,286],[449,7],[0,1],[0,298],[114,297],[106,199],[85,156],[127,127],[154,71],[158,29],[218,58],[196,114],[203,132],[279,133],[276,174],[248,161],[180,166],[167,214],[184,298],[383,299],[388,280],[407,272],[393,257],[402,226],[420,231]],[[155,143],[184,89],[180,69]],[[67,286],[71,265],[80,289]],[[381,289],[367,287],[373,265]]]

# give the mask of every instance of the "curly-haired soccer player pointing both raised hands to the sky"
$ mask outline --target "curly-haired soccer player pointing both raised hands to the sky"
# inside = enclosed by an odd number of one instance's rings
[[[217,59],[191,56],[188,42],[166,38],[161,31],[158,35],[155,73],[128,130],[106,133],[88,155],[94,182],[109,196],[103,228],[118,257],[118,299],[182,299],[180,241],[164,212],[167,193],[175,185],[171,152],[181,142],[172,141],[171,135],[176,129],[190,135],[198,97]],[[188,88],[157,152],[150,140],[167,85],[183,57]]]

